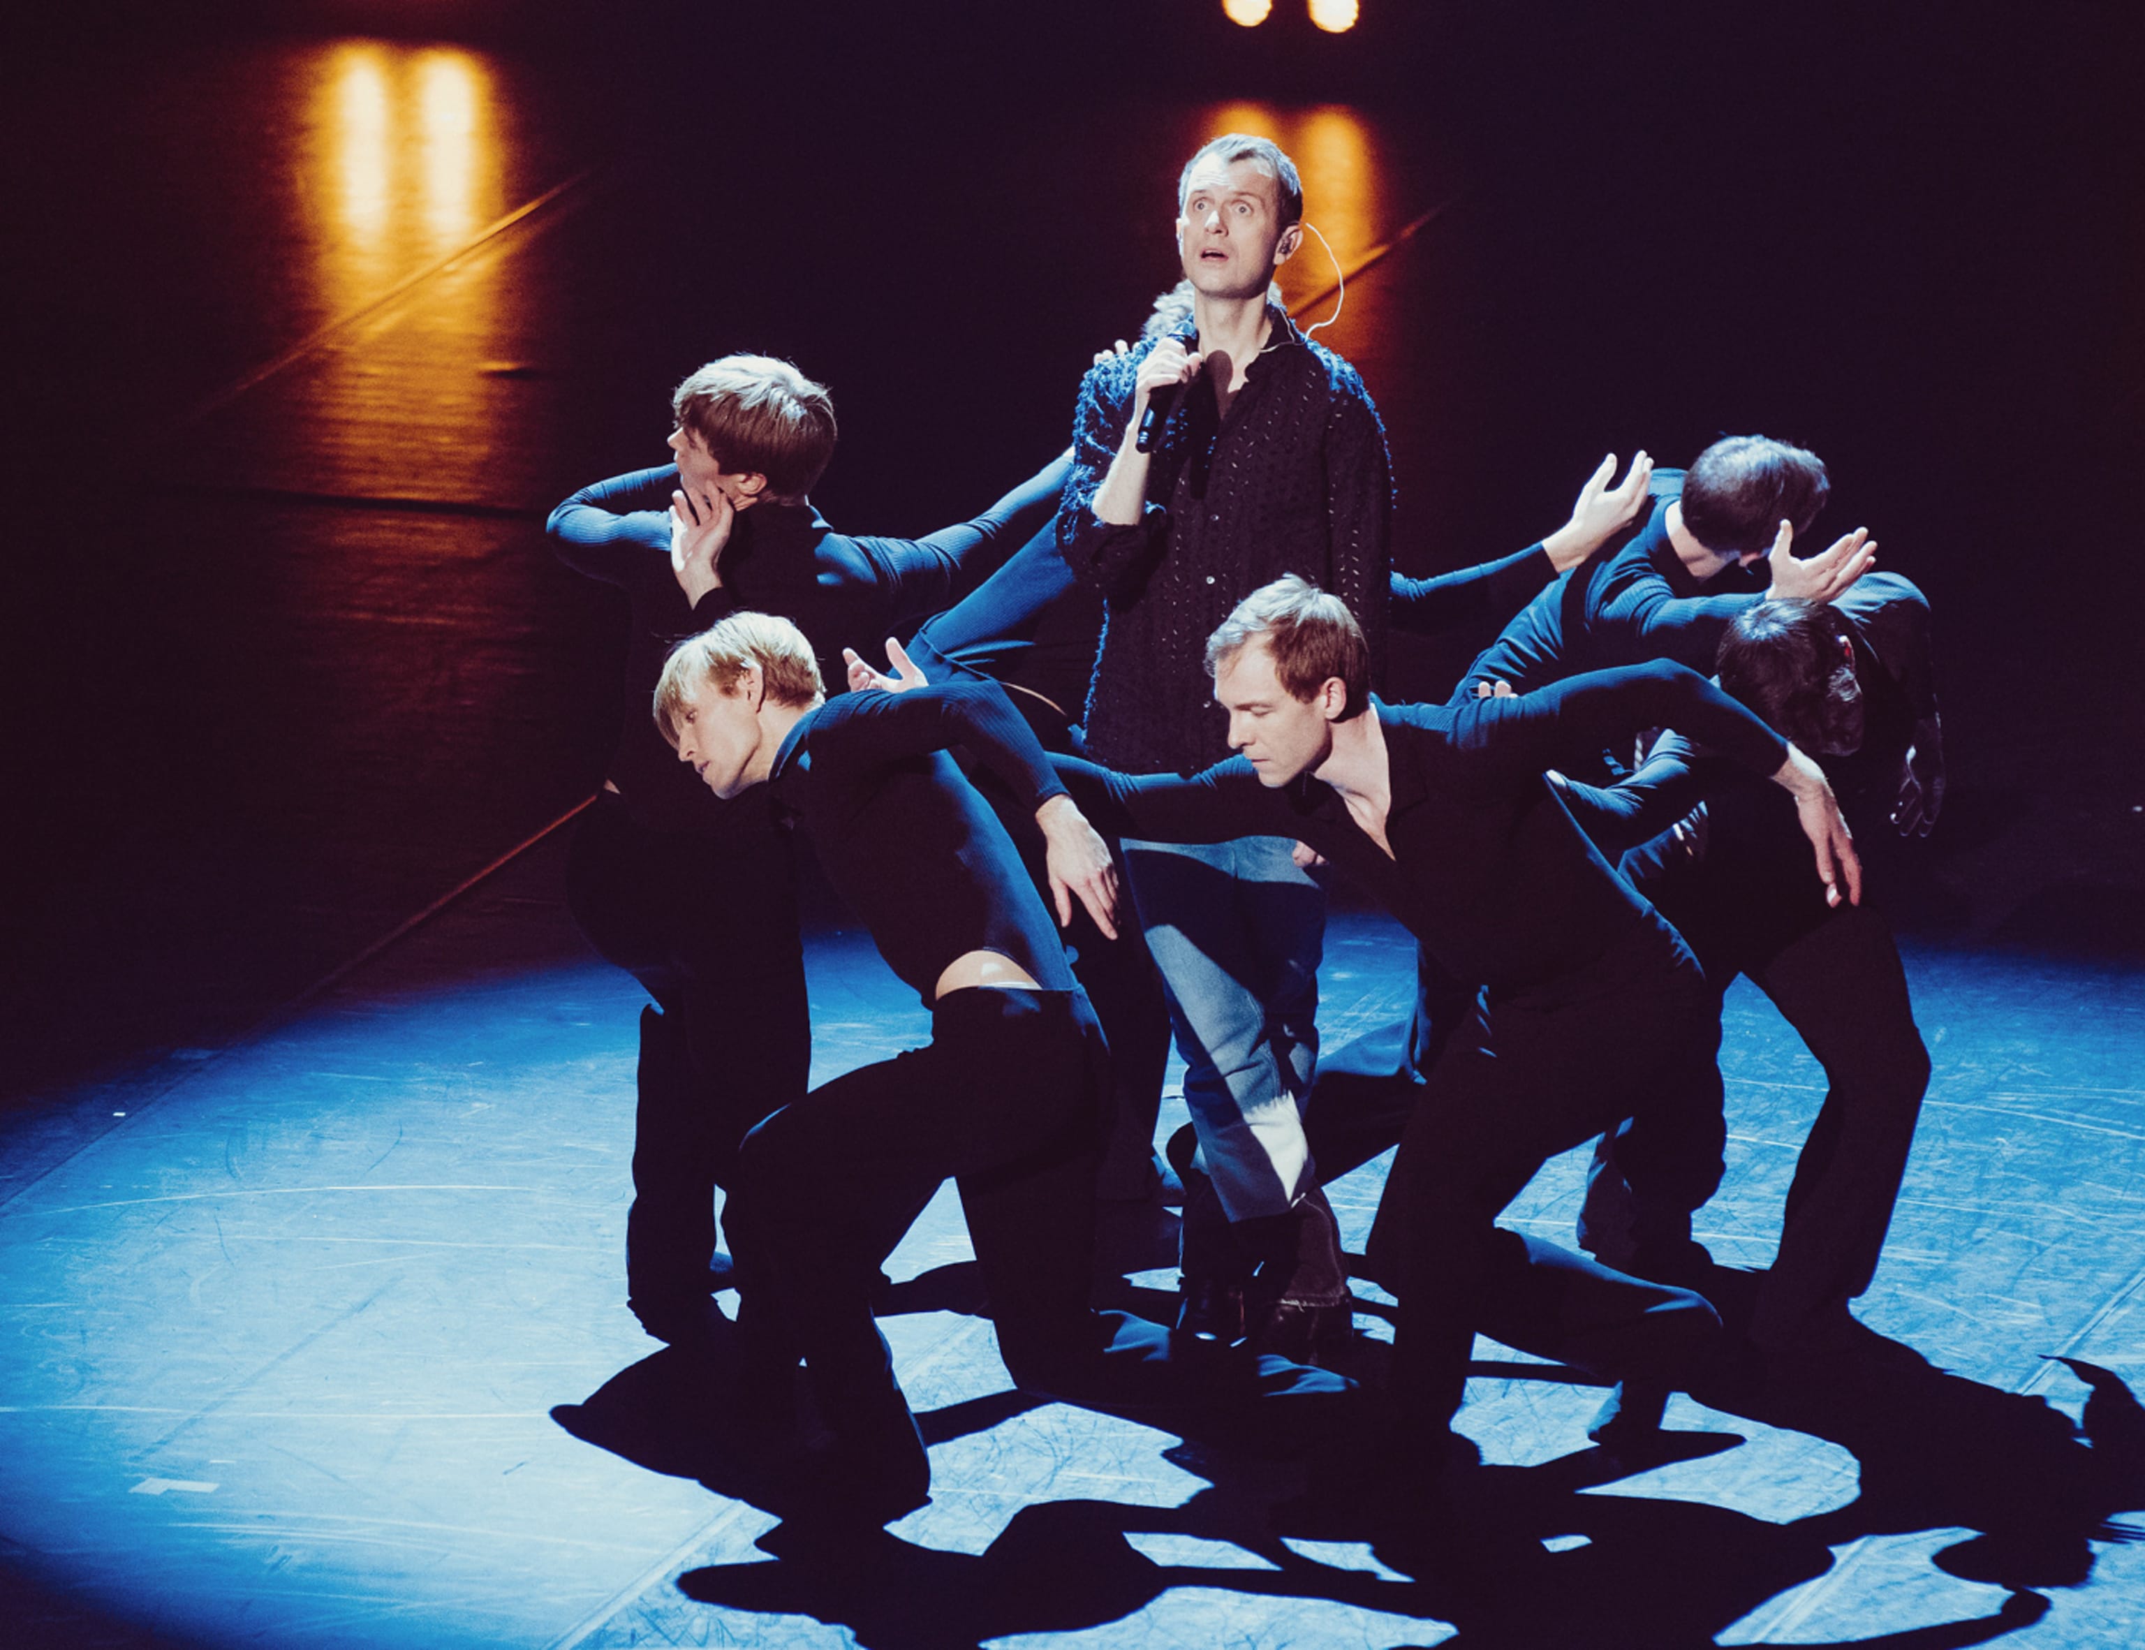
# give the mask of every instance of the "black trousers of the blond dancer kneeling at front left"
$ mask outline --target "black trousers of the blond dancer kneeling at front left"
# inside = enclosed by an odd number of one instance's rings
[[[1094,1169],[1109,1058],[1077,991],[948,991],[931,1043],[822,1084],[744,1141],[723,1225],[740,1324],[802,1358],[819,1412],[879,1476],[920,1474],[922,1444],[871,1315],[871,1285],[918,1202],[961,1189],[1000,1356],[1030,1393],[1186,1429],[1205,1412],[1306,1399],[1276,1425],[1336,1414],[1353,1388],[1278,1358],[1218,1354],[1158,1324],[1088,1309]],[[905,1457],[905,1459],[903,1459]]]

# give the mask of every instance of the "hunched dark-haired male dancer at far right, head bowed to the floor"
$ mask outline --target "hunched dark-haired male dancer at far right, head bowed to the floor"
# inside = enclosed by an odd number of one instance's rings
[[[1823,755],[1864,845],[1881,845],[1888,826],[1928,833],[1943,805],[1943,736],[1928,603],[1913,584],[1870,573],[1830,607],[1750,607],[1718,663],[1722,689]],[[1795,828],[1765,787],[1680,736],[1611,792],[1568,787],[1579,822],[1611,854],[1697,798],[1701,813],[1624,854],[1622,867],[1690,942],[1716,998],[1748,974],[1825,1069],[1825,1103],[1795,1163],[1780,1249],[1748,1328],[1767,1352],[1819,1347],[1877,1272],[1928,1051],[1881,905],[1828,908],[1815,897],[1798,875]],[[1692,1167],[1675,1180],[1690,1193],[1718,1180],[1727,1129],[1718,1069],[1699,1075],[1707,1092],[1682,1109]],[[1581,1242],[1611,1266],[1699,1281],[1682,1242],[1690,1208],[1641,1206],[1619,1161],[1615,1135],[1604,1137]]]

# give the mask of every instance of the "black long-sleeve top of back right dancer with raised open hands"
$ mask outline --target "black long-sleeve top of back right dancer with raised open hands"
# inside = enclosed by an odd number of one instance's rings
[[[1684,489],[1682,470],[1656,470],[1645,524],[1566,571],[1467,667],[1452,702],[1478,682],[1510,682],[1517,693],[1589,669],[1673,659],[1712,672],[1714,652],[1735,616],[1765,599],[1767,571],[1727,569],[1699,581],[1669,543],[1669,504]]]

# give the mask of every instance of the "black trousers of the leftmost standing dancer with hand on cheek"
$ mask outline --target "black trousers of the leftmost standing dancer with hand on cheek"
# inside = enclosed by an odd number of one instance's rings
[[[796,863],[764,792],[710,830],[652,830],[603,792],[566,858],[590,944],[654,998],[641,1011],[626,1285],[641,1307],[706,1296],[714,1189],[738,1144],[804,1092],[811,1011]]]

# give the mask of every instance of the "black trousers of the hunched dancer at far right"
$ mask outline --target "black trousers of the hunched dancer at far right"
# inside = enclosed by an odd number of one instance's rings
[[[1665,914],[1673,920],[1680,901],[1692,897],[1688,884],[1665,884]],[[1686,916],[1692,933],[1737,936],[1737,925],[1716,920],[1716,912]],[[1714,1000],[1737,972],[1748,974],[1817,1056],[1828,1081],[1787,1191],[1780,1251],[1759,1290],[1750,1324],[1759,1345],[1791,1341],[1813,1313],[1843,1307],[1870,1285],[1928,1088],[1928,1049],[1883,916],[1868,903],[1840,905],[1815,925],[1793,925],[1791,933],[1757,953],[1731,948],[1729,940],[1699,942]],[[1740,938],[1746,944],[1763,938],[1763,927],[1746,923]],[[1619,1141],[1604,1139],[1581,1214],[1581,1242],[1604,1259],[1617,1259],[1626,1232],[1675,1221],[1688,1229],[1690,1210],[1718,1184],[1727,1141],[1720,1069],[1697,1075],[1695,1084],[1684,1107],[1686,1163],[1673,1184],[1686,1195],[1703,1187],[1703,1195],[1688,1206],[1654,1204],[1624,1172]]]

